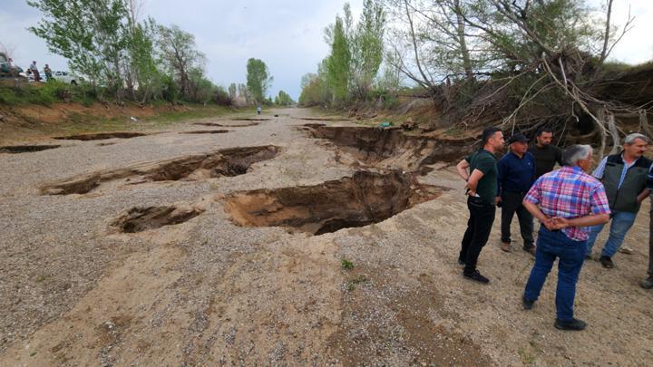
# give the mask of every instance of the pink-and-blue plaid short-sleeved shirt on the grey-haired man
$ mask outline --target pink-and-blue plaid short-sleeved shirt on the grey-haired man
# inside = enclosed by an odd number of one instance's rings
[[[539,204],[547,217],[573,219],[609,214],[603,184],[580,167],[563,167],[547,173],[535,181],[524,200]],[[589,227],[567,227],[562,232],[574,241],[586,241],[590,237]]]

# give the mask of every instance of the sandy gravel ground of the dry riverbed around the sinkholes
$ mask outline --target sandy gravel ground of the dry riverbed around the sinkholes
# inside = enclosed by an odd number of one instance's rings
[[[188,124],[124,140],[44,140],[63,147],[0,154],[0,365],[653,361],[653,293],[637,285],[648,261],[648,202],[626,239],[633,255],[615,256],[611,270],[583,266],[576,314],[589,327],[564,333],[553,328],[555,272],[533,310],[521,310],[533,259],[520,244],[512,253],[499,249],[498,220],[479,265],[491,284],[463,279],[456,258],[465,198],[443,165],[421,180],[449,191],[367,227],[309,236],[233,224],[223,208],[231,192],[317,185],[355,171],[340,157],[346,153],[297,130],[315,122],[300,119],[311,111],[273,113],[279,117],[257,126],[216,128],[229,133],[180,134],[208,129]],[[114,144],[99,145],[107,142]],[[83,195],[39,191],[99,169],[261,145],[281,151],[237,177],[117,181]],[[130,208],[171,205],[203,212],[133,234],[110,226]],[[354,268],[341,268],[343,258]]]

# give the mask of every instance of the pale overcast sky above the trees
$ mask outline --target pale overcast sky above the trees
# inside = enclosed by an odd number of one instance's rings
[[[357,19],[363,1],[349,3]],[[323,29],[337,13],[342,14],[344,4],[344,0],[145,0],[142,13],[159,24],[177,24],[194,34],[198,48],[207,55],[206,71],[213,82],[225,87],[245,82],[247,60],[256,57],[268,64],[274,76],[269,94],[283,90],[297,100],[302,75],[316,72],[317,63],[328,53]],[[616,24],[623,24],[629,5],[637,17],[635,27],[615,48],[612,59],[647,62],[653,59],[653,0],[615,0]],[[53,70],[66,70],[66,61],[48,53],[44,41],[26,30],[40,17],[24,0],[2,0],[0,43],[13,50],[15,62],[23,68],[36,60],[40,67],[49,63]]]

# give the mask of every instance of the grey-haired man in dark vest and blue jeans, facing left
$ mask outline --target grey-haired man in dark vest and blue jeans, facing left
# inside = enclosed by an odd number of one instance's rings
[[[624,140],[623,150],[600,161],[592,174],[606,189],[609,207],[612,212],[608,241],[599,261],[606,268],[614,267],[614,256],[623,243],[626,233],[637,217],[641,202],[648,197],[646,187],[650,159],[642,157],[647,150],[648,138],[642,134],[630,134]],[[591,249],[603,226],[590,228],[590,240],[586,256],[591,257]]]

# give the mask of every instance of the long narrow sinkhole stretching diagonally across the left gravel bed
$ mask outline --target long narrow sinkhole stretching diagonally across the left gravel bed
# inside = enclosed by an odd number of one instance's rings
[[[103,182],[127,179],[128,184],[165,180],[197,180],[220,176],[238,176],[248,172],[254,163],[273,159],[279,148],[275,146],[231,148],[207,154],[196,154],[157,162],[146,162],[122,169],[103,169],[82,176],[63,179],[44,185],[44,195],[86,194]],[[139,179],[132,180],[137,177]]]

